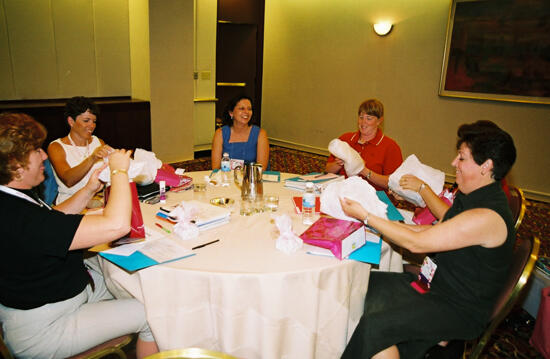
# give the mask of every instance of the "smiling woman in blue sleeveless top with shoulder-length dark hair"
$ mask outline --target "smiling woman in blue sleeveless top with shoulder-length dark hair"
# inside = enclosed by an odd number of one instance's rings
[[[222,155],[232,160],[257,162],[267,169],[269,142],[265,130],[252,125],[252,100],[240,95],[229,102],[223,114],[223,127],[212,139],[212,169],[220,168]]]

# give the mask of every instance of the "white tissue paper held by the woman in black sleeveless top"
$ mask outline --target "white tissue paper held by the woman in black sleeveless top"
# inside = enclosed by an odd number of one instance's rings
[[[349,198],[359,202],[363,208],[375,216],[387,218],[388,205],[376,195],[376,190],[370,183],[360,177],[349,177],[344,181],[331,183],[321,194],[321,212],[334,218],[358,222],[348,217],[342,210],[340,198]]]

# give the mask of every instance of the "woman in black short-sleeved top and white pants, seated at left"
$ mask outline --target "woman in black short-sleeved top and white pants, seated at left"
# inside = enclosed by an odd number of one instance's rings
[[[33,191],[44,180],[46,130],[24,114],[0,114],[0,322],[18,358],[66,358],[139,332],[138,357],[158,351],[143,305],[111,300],[82,249],[130,230],[130,152],[109,156],[111,197],[102,214],[79,214],[102,188],[90,181],[54,208]]]

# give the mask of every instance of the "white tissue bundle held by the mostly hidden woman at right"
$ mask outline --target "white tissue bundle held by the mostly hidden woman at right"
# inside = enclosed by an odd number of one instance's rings
[[[418,207],[426,206],[426,203],[424,203],[422,196],[416,191],[411,191],[409,189],[405,190],[399,185],[399,180],[403,175],[406,174],[411,174],[418,177],[419,179],[424,181],[424,183],[430,186],[432,191],[434,191],[436,194],[439,194],[441,193],[441,191],[443,191],[443,185],[445,183],[445,173],[443,173],[443,171],[421,163],[415,155],[410,155],[409,157],[407,157],[407,159],[405,159],[405,161],[403,161],[401,166],[399,166],[399,168],[390,175],[388,187],[393,192],[403,197],[403,199],[411,202]]]

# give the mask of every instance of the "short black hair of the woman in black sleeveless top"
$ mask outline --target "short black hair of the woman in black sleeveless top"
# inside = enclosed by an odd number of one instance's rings
[[[491,121],[461,125],[457,135],[456,148],[465,143],[475,163],[482,165],[489,158],[493,161],[495,181],[503,179],[516,162],[516,146],[512,136]]]

